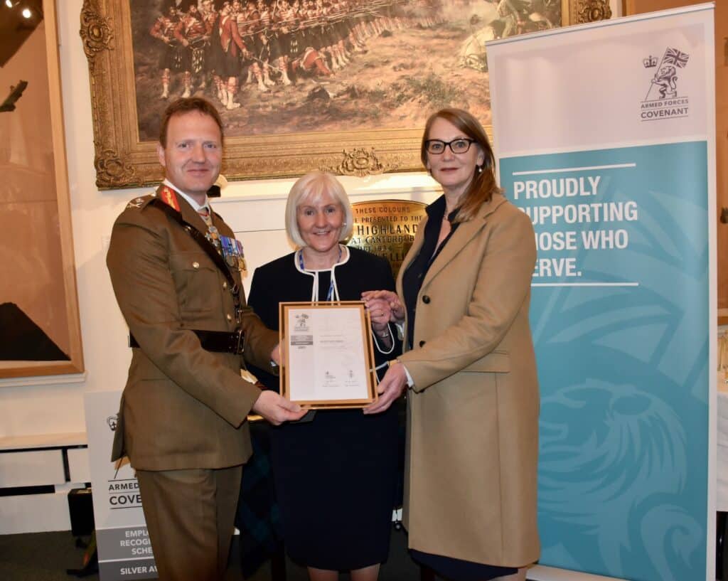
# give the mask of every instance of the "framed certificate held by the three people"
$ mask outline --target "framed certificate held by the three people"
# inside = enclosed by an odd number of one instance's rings
[[[369,313],[361,301],[280,303],[280,392],[304,408],[376,401]]]

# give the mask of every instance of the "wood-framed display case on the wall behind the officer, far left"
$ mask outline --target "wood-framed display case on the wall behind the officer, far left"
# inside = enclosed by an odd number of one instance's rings
[[[0,89],[9,93],[0,94],[0,377],[78,374],[84,363],[55,4],[11,4],[1,7]]]

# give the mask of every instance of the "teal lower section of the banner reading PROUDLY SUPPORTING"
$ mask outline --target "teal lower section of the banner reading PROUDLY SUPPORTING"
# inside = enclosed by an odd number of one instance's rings
[[[705,141],[499,162],[539,245],[542,565],[706,577],[707,167]]]

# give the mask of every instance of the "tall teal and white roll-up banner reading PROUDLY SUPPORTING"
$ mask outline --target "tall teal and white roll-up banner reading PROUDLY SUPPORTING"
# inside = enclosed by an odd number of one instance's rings
[[[538,247],[529,579],[715,579],[713,47],[713,4],[487,44]]]

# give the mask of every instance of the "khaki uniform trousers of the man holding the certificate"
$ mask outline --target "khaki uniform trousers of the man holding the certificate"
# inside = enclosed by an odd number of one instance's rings
[[[217,470],[137,470],[161,581],[225,576],[242,466]]]

